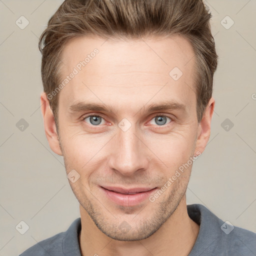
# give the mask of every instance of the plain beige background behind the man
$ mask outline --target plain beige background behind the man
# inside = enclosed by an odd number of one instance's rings
[[[63,159],[48,146],[39,101],[38,37],[61,2],[0,0],[0,256],[18,255],[79,217]],[[187,203],[201,203],[223,221],[256,232],[256,1],[205,3],[219,55],[216,104],[209,142],[192,168]],[[24,29],[15,24],[21,15],[29,21]],[[220,23],[226,15],[234,21],[229,29]],[[28,123],[23,131],[16,127],[21,118]],[[233,123],[228,131],[221,126],[226,118]],[[21,220],[29,226],[24,234],[15,229]]]

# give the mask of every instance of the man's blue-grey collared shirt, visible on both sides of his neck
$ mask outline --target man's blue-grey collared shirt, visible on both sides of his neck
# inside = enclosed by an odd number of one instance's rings
[[[188,256],[256,255],[256,233],[222,221],[201,204],[187,205],[187,212],[200,225]],[[81,219],[77,218],[65,232],[36,243],[19,256],[81,256],[78,240],[80,229]]]

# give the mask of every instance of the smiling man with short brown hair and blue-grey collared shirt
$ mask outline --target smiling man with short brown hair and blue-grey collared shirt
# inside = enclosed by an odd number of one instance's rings
[[[217,54],[201,0],[65,0],[42,33],[41,111],[80,203],[28,255],[256,255],[256,234],[186,205],[210,136]]]

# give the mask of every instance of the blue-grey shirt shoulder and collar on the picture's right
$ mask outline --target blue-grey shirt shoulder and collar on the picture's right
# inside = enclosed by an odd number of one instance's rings
[[[189,217],[200,225],[190,255],[256,255],[256,233],[223,221],[201,204],[187,205]]]

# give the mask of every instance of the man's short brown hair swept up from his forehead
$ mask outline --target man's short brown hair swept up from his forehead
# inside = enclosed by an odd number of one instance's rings
[[[197,120],[212,95],[217,67],[211,13],[202,0],[65,0],[50,17],[39,39],[41,77],[46,94],[60,82],[60,55],[70,39],[81,35],[140,38],[179,34],[195,56]],[[49,99],[57,125],[58,93]]]

